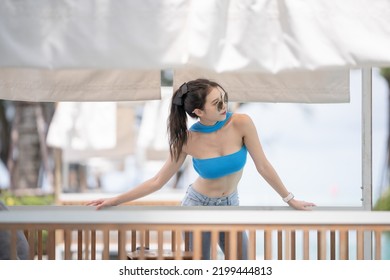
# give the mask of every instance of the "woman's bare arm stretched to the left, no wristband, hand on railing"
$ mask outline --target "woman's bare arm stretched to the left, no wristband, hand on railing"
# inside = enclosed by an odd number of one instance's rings
[[[96,209],[101,209],[107,206],[116,206],[125,202],[133,201],[144,197],[148,194],[158,191],[175,175],[183,164],[187,154],[181,153],[178,161],[175,161],[171,156],[165,162],[160,171],[152,178],[141,183],[134,189],[131,189],[118,196],[106,199],[97,199],[87,203],[89,206],[96,206]]]

